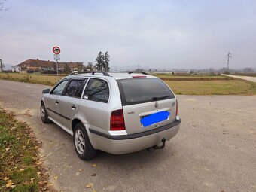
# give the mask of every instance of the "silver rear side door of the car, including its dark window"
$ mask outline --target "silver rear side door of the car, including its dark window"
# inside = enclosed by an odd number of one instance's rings
[[[72,78],[65,93],[59,96],[59,123],[72,130],[72,118],[78,113],[81,95],[88,78]]]

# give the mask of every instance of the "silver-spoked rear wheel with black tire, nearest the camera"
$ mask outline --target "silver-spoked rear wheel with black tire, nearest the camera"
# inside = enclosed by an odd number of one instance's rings
[[[96,156],[97,150],[93,148],[83,123],[75,125],[73,140],[75,151],[82,160],[90,160]]]

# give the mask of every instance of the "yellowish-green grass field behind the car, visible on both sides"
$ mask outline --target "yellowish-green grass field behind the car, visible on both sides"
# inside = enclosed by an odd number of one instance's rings
[[[176,94],[182,95],[256,95],[256,83],[221,75],[172,75],[153,73],[161,78]],[[59,79],[66,75],[59,75]],[[54,85],[56,75],[32,75],[22,73],[0,73],[0,79],[22,81],[33,84]]]

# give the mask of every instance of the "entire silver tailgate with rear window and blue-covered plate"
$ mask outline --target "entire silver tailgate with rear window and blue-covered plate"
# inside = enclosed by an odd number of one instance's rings
[[[175,121],[176,98],[159,78],[117,81],[128,134],[157,129]]]

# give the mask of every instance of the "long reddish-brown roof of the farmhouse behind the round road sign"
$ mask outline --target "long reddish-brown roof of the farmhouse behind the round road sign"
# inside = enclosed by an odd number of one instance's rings
[[[28,59],[24,62],[21,62],[17,66],[30,66],[30,67],[45,67],[50,68],[54,67],[56,65],[56,62],[53,61],[44,61],[39,59]],[[77,68],[81,65],[83,65],[83,62],[59,62],[59,67],[64,68],[66,65],[68,65],[70,68]]]

